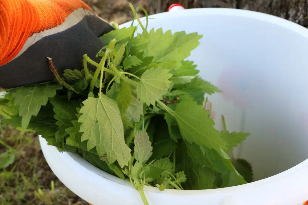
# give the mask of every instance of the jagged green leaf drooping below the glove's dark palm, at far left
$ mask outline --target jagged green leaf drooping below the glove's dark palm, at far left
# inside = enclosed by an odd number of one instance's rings
[[[42,105],[46,105],[48,98],[56,94],[56,90],[62,89],[58,84],[39,84],[20,87],[16,93],[12,93],[14,104],[19,105],[19,116],[22,116],[22,128],[26,129],[31,116],[37,116]]]

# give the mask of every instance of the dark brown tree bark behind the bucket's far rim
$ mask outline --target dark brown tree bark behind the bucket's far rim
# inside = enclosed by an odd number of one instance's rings
[[[224,7],[272,14],[308,27],[308,0],[147,0],[149,14],[165,12],[173,3],[185,8]]]

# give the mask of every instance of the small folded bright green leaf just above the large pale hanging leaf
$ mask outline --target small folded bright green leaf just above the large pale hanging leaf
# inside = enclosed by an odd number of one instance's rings
[[[116,92],[115,101],[118,104],[121,114],[125,114],[132,101],[132,90],[128,84],[123,81],[120,84],[120,89]]]

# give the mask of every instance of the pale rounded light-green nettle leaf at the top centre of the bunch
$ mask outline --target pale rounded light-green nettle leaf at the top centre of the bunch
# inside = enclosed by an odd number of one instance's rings
[[[168,79],[172,76],[168,72],[168,69],[152,68],[142,74],[136,88],[137,97],[142,103],[155,105],[156,99],[162,99],[169,88]]]

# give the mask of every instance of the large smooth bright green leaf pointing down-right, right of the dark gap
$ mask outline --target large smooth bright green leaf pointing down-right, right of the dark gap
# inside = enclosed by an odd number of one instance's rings
[[[209,111],[202,105],[194,101],[181,102],[176,106],[175,114],[183,139],[217,151],[226,148],[225,141],[213,127],[215,122],[209,117]]]

